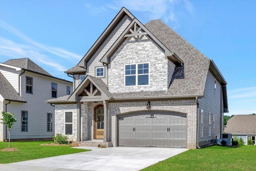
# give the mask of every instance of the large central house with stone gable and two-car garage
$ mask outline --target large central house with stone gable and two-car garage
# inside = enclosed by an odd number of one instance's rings
[[[71,95],[55,104],[55,133],[79,145],[184,147],[215,143],[228,112],[214,64],[161,20],[122,8],[78,65]]]

